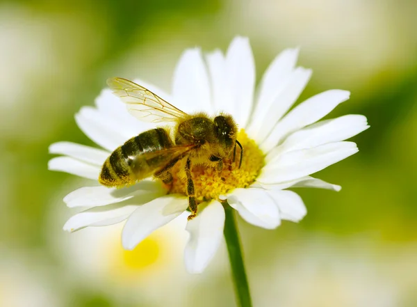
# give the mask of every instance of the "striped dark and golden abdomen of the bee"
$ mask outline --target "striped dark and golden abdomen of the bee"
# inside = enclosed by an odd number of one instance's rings
[[[112,152],[101,168],[99,182],[107,187],[118,187],[147,178],[165,166],[158,151],[172,145],[170,136],[162,128],[142,132]]]

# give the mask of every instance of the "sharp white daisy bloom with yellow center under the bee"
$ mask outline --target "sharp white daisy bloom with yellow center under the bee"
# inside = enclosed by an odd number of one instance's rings
[[[293,107],[311,77],[311,70],[295,66],[297,54],[298,49],[281,52],[256,91],[252,50],[249,40],[241,37],[231,42],[226,54],[215,50],[203,56],[198,48],[183,52],[174,71],[172,95],[136,80],[186,113],[204,111],[215,116],[221,111],[238,124],[238,141],[244,150],[240,168],[239,159],[224,159],[221,173],[201,165],[191,170],[199,209],[197,217],[186,224],[190,237],[184,254],[186,268],[192,273],[205,269],[222,241],[224,206],[232,207],[254,226],[274,229],[282,219],[300,221],[306,214],[300,196],[286,189],[341,189],[310,175],[356,153],[357,145],[344,140],[369,126],[361,115],[321,120],[349,99],[346,90],[327,90]],[[50,170],[95,183],[65,196],[68,207],[83,209],[65,223],[65,230],[126,220],[122,245],[134,249],[154,230],[186,212],[181,163],[172,168],[171,187],[150,178],[122,189],[98,185],[101,166],[111,152],[155,124],[131,116],[108,89],[97,97],[96,107],[81,108],[75,118],[101,148],[70,142],[49,147],[50,153],[63,155],[49,161]]]

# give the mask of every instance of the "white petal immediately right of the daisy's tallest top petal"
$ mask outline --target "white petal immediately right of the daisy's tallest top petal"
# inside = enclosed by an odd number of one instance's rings
[[[266,108],[269,109],[272,102],[281,90],[281,84],[284,84],[291,75],[297,62],[298,48],[286,49],[272,61],[268,69],[263,74],[261,85],[259,87],[259,98],[256,104],[256,111]]]

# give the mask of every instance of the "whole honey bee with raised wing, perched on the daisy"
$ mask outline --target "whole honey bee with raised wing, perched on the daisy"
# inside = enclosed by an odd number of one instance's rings
[[[170,128],[156,127],[142,132],[116,148],[104,162],[99,182],[106,187],[124,187],[154,175],[165,184],[173,180],[172,167],[179,163],[186,174],[188,219],[197,214],[195,187],[191,171],[194,164],[215,167],[221,173],[223,159],[236,157],[240,147],[239,168],[243,147],[236,139],[238,126],[227,114],[209,118],[205,113],[187,114],[155,95],[147,88],[122,78],[110,78],[108,86],[126,103],[129,113],[152,123],[175,123]]]

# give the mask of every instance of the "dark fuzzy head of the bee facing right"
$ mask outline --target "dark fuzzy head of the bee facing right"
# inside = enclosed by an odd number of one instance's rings
[[[214,118],[215,137],[226,152],[234,148],[237,132],[237,125],[231,116],[221,115]]]

